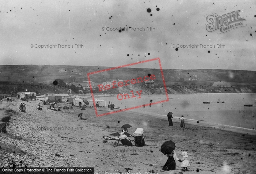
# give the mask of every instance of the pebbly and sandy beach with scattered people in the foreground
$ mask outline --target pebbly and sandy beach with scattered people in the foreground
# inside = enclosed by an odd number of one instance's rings
[[[19,155],[1,149],[0,164],[10,167],[11,158],[23,160],[27,167],[94,167],[98,173],[255,173],[256,136],[225,130],[204,130],[207,126],[188,124],[194,130],[179,130],[180,122],[173,119],[168,126],[167,117],[125,111],[96,117],[94,108],[86,111],[62,110],[54,112],[36,109],[38,100],[27,102],[27,112],[18,111],[19,102],[10,103],[17,111],[7,126],[7,133],[1,133],[1,143],[16,145],[26,154]],[[2,103],[3,104],[3,103]],[[42,105],[42,104],[41,104]],[[64,106],[64,103],[60,103]],[[83,112],[84,120],[78,119]],[[98,112],[106,112],[99,108]],[[1,110],[1,116],[4,111]],[[123,124],[131,124],[128,133],[136,128],[144,129],[146,146],[118,146],[113,140],[103,143],[102,136],[121,132]],[[41,129],[41,130],[40,130]],[[112,137],[112,136],[110,136]],[[160,152],[163,142],[176,142],[176,154],[182,158],[182,151],[188,152],[191,166],[182,171],[176,162],[176,170],[163,171],[167,157]],[[56,155],[57,153],[57,155]],[[16,163],[18,167],[20,164]]]

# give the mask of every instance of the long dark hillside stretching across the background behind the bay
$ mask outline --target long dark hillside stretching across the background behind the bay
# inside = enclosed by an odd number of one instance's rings
[[[1,91],[8,85],[14,84],[22,86],[22,90],[29,88],[30,84],[53,84],[56,79],[63,82],[88,81],[87,73],[104,70],[110,67],[90,67],[90,66],[62,66],[62,65],[1,65],[0,66],[0,87]],[[90,75],[91,82],[103,83],[111,79],[131,80],[133,78],[144,77],[148,74],[155,75],[154,84],[163,87],[161,71],[149,68],[118,68],[116,70],[104,71]],[[207,93],[207,92],[256,92],[256,71],[244,70],[163,70],[168,92],[176,93]],[[212,86],[221,83],[227,88],[223,89],[175,89],[173,85],[205,85]],[[136,88],[136,86],[133,86]],[[141,86],[140,86],[141,87]],[[118,92],[131,90],[130,87],[119,88]],[[139,88],[139,87],[138,87]],[[20,90],[20,88],[19,88]],[[149,94],[164,93],[157,89],[143,90]],[[0,91],[0,92],[1,92]],[[54,92],[54,90],[41,90],[41,93]],[[162,92],[161,92],[162,91]],[[65,93],[65,90],[55,90],[57,93]],[[117,92],[117,91],[109,91]],[[3,93],[3,92],[1,92]]]

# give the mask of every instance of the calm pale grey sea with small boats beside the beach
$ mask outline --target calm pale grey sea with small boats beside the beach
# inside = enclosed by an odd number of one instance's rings
[[[148,114],[167,118],[173,112],[173,120],[184,116],[187,123],[204,123],[208,125],[229,126],[255,130],[256,125],[256,94],[255,93],[211,93],[211,94],[168,94],[139,95],[121,99],[121,95],[96,96],[95,99],[114,103],[119,109],[131,108],[129,112]],[[165,101],[167,100],[168,101]],[[162,102],[161,102],[162,101]],[[159,102],[159,103],[157,103]],[[161,103],[160,103],[161,102]],[[204,104],[203,102],[210,102]],[[218,103],[224,102],[224,103]],[[151,106],[148,104],[152,103]],[[157,103],[157,104],[155,104]],[[143,104],[146,106],[143,107]],[[252,107],[244,105],[252,104]],[[147,106],[148,105],[148,106]],[[133,109],[133,107],[142,106]],[[106,112],[109,110],[106,109]],[[128,111],[124,111],[128,112]]]

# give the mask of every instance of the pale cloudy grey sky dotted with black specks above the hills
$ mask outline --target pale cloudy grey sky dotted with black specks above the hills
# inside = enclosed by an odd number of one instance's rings
[[[0,64],[116,67],[160,58],[163,69],[255,71],[255,6],[255,0],[2,0]],[[238,10],[241,27],[206,30],[208,15]]]

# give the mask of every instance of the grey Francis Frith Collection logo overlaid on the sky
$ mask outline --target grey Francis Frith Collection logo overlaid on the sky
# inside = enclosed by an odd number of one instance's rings
[[[244,18],[240,17],[241,10],[226,13],[224,15],[208,15],[206,20],[209,24],[206,25],[208,32],[216,31],[219,29],[221,33],[230,31],[231,29],[243,27]]]

